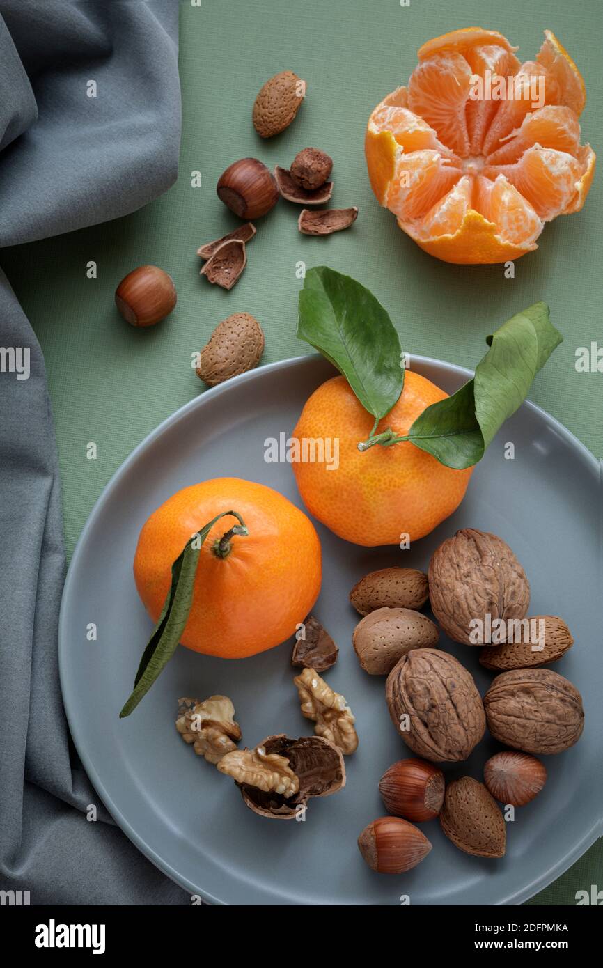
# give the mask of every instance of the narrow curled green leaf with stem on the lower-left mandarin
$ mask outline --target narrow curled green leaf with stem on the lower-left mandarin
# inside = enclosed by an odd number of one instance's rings
[[[136,710],[142,697],[149,691],[175,652],[191,611],[201,545],[216,522],[228,515],[232,515],[240,522],[240,527],[234,529],[235,533],[247,534],[245,523],[236,511],[223,511],[200,529],[198,534],[193,535],[172,564],[171,586],[167,592],[162,614],[142,653],[134,681],[134,690],[119,713],[120,719]]]

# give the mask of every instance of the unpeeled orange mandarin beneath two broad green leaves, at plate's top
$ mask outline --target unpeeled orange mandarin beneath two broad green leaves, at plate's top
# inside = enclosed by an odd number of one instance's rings
[[[425,408],[448,396],[411,370],[398,402],[379,421],[376,434],[390,428],[405,436]],[[340,537],[372,547],[400,544],[429,534],[459,506],[472,468],[445,467],[409,440],[376,445],[362,452],[374,417],[362,406],[347,379],[322,383],[304,406],[293,437],[339,439],[339,466],[292,465],[299,493],[311,514]]]

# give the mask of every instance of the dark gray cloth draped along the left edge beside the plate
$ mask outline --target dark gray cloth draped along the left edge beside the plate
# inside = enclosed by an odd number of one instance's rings
[[[166,191],[177,56],[178,0],[0,0],[0,246]],[[0,889],[30,904],[190,903],[113,824],[75,754],[57,664],[64,569],[44,359],[0,269]]]

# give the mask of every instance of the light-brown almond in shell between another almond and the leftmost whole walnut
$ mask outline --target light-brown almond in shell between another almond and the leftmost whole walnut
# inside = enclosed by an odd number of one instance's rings
[[[352,645],[370,676],[387,676],[411,649],[434,649],[437,625],[409,608],[378,608],[356,625]]]

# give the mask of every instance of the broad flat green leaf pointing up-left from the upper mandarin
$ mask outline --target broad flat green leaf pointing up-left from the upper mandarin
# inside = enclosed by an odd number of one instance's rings
[[[404,386],[402,350],[394,324],[367,288],[324,265],[309,269],[297,336],[337,367],[374,417],[391,410]]]

